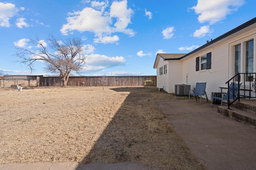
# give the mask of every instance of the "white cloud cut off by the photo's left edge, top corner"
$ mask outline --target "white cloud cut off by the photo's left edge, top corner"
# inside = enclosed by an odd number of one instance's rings
[[[10,27],[10,18],[14,17],[18,9],[14,4],[0,2],[0,27]]]

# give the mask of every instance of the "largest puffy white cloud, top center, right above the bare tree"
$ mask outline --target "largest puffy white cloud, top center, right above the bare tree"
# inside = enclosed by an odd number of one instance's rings
[[[91,6],[82,11],[69,12],[69,17],[66,18],[67,23],[62,25],[60,32],[63,35],[68,35],[72,31],[93,32],[98,37],[96,41],[101,43],[108,43],[108,41],[102,40],[102,37],[107,39],[112,37],[110,43],[118,41],[117,36],[111,36],[115,32],[125,33],[129,36],[135,35],[132,29],[127,28],[133,14],[133,10],[127,7],[127,0],[113,1],[110,10],[105,9],[108,6],[108,1],[92,1]],[[113,23],[113,21],[116,22]]]

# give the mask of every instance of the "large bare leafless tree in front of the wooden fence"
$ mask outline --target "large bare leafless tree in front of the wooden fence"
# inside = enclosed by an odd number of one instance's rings
[[[81,39],[67,38],[65,41],[53,35],[49,35],[46,44],[38,37],[30,39],[28,47],[17,48],[14,56],[19,57],[20,62],[35,70],[34,62],[44,61],[46,72],[58,73],[62,76],[63,86],[67,86],[68,77],[71,71],[79,74],[79,71],[86,68],[86,55],[83,53]]]

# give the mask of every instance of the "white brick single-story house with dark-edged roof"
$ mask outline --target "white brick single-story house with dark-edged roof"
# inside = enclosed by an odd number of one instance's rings
[[[174,93],[175,84],[189,84],[194,89],[196,82],[207,82],[206,93],[210,99],[212,92],[227,87],[225,83],[238,72],[255,73],[255,55],[256,18],[188,54],[157,54],[154,63],[157,87]],[[255,83],[255,74],[253,78]],[[240,81],[248,85],[248,77],[245,80]]]

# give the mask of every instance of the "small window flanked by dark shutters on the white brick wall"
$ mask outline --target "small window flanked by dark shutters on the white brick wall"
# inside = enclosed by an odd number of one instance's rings
[[[196,71],[206,70],[211,68],[212,68],[212,53],[207,53],[204,56],[196,57]]]

